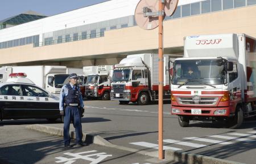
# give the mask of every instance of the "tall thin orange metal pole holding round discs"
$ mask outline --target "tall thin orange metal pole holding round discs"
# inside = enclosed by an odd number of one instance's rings
[[[164,1],[159,0],[159,11],[163,11]],[[159,14],[159,85],[158,85],[158,158],[163,159],[163,15]]]

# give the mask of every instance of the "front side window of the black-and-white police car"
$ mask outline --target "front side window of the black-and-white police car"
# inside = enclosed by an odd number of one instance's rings
[[[30,85],[22,85],[23,96],[33,96],[33,97],[49,97],[48,93],[44,90]]]

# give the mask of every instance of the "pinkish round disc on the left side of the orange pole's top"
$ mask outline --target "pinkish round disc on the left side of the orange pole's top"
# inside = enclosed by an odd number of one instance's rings
[[[141,0],[135,9],[135,20],[142,29],[154,29],[158,27],[158,16],[144,16],[144,7],[148,7],[151,12],[158,12],[158,0]]]

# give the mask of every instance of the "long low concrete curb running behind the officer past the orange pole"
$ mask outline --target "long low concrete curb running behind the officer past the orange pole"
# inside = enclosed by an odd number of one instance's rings
[[[40,124],[33,124],[30,126],[26,126],[26,128],[32,131],[48,133],[49,135],[63,136],[63,128],[48,127]],[[75,131],[69,131],[69,134],[72,139],[76,139]],[[116,148],[120,150],[126,150],[128,152],[139,153],[142,155],[158,158],[158,152],[146,152],[144,150],[137,150],[133,148],[127,148],[124,146],[114,145],[109,141],[105,140],[104,138],[102,138],[101,136],[94,136],[88,133],[82,133],[82,140],[86,141],[86,143],[93,143],[97,145],[107,146],[110,148]],[[225,159],[202,156],[199,154],[192,154],[174,150],[164,150],[164,157],[172,161],[185,162],[188,164],[243,164],[240,162],[233,162]]]

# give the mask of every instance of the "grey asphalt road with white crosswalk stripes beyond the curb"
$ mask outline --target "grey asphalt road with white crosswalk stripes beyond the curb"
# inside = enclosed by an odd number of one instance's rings
[[[84,132],[100,135],[115,145],[147,152],[157,151],[158,105],[156,103],[139,106],[134,103],[119,105],[118,101],[92,100],[85,101],[85,105],[87,108],[82,118]],[[177,117],[170,115],[170,102],[164,103],[163,116],[163,139],[164,145],[167,146],[164,149],[181,150],[242,163],[255,163],[256,120],[246,120],[237,130],[224,128],[222,123],[199,122],[191,122],[189,127],[182,128],[177,122]],[[63,127],[62,123],[53,124],[44,120],[22,120],[18,124],[26,126],[33,123]],[[0,123],[0,126],[4,127],[12,125],[11,120]],[[17,127],[17,125],[13,126]],[[1,139],[2,135],[0,141]]]

